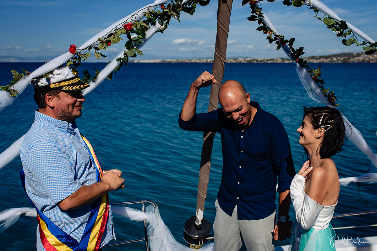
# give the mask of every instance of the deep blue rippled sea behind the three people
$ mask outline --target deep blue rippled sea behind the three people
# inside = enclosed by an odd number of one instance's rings
[[[11,70],[33,71],[42,63],[0,63],[0,85],[9,83]],[[94,73],[106,64],[83,64],[78,68]],[[318,64],[310,64],[317,68]],[[183,223],[195,215],[199,178],[202,133],[186,132],[178,127],[178,114],[190,84],[203,71],[211,71],[207,63],[129,63],[85,96],[83,116],[78,127],[92,144],[103,169],[123,172],[125,188],[110,193],[110,202],[148,199],[155,201],[162,219],[176,240],[182,239]],[[377,152],[377,64],[322,64],[325,88],[336,93],[339,109],[360,130],[366,142]],[[302,106],[319,106],[303,88],[293,64],[228,63],[224,81],[234,79],[250,92],[251,100],[276,115],[287,130],[296,171],[306,157],[297,143],[296,129],[302,121]],[[201,89],[197,112],[206,112],[209,88]],[[29,86],[12,106],[0,113],[0,152],[24,135],[34,121],[37,106]],[[376,172],[352,142],[333,157],[339,177],[352,177]],[[0,170],[0,211],[13,207],[31,207],[19,180],[19,157]],[[215,200],[221,179],[222,154],[220,135],[213,146],[210,182],[204,218],[213,223]],[[350,183],[341,187],[335,214],[377,209],[377,184]],[[135,208],[138,208],[137,206]],[[140,209],[140,208],[138,208]],[[294,217],[291,206],[291,217]],[[140,222],[114,216],[118,241],[143,237]],[[333,227],[360,226],[377,223],[375,214],[333,219]],[[36,218],[21,216],[3,233],[4,250],[35,250]],[[345,237],[376,236],[377,228],[337,230]],[[277,242],[276,245],[287,245]],[[144,243],[106,248],[104,250],[145,250]]]

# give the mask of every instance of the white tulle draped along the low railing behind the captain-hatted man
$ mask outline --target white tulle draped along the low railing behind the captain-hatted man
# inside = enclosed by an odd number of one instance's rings
[[[191,251],[192,248],[182,245],[177,242],[169,228],[162,221],[161,216],[158,212],[158,207],[153,207],[153,205],[147,206],[146,212],[136,210],[130,207],[124,206],[112,206],[113,214],[120,215],[125,218],[129,218],[131,221],[144,221],[148,223],[148,243],[151,251]],[[37,212],[31,207],[21,207],[6,209],[0,212],[0,233],[12,225],[21,214],[26,216],[37,216]],[[141,233],[142,234],[142,233]],[[215,246],[212,243],[203,245],[200,250],[202,251],[213,251]]]

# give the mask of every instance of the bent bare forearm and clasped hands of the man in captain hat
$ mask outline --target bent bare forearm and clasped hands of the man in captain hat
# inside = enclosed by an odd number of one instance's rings
[[[113,169],[106,171],[101,177],[101,181],[89,186],[81,186],[76,192],[58,203],[61,210],[67,211],[85,206],[107,192],[124,188],[124,178],[122,172]]]

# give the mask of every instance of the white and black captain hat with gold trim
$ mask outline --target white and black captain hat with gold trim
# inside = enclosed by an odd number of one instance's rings
[[[48,77],[40,77],[33,83],[35,93],[60,89],[62,91],[80,91],[90,85],[80,81],[77,69],[72,66],[56,68]]]

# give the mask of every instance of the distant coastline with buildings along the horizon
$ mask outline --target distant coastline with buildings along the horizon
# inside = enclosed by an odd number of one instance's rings
[[[377,63],[376,55],[363,52],[339,53],[327,56],[303,57],[309,63]],[[135,59],[135,63],[211,63],[213,59]],[[227,63],[291,63],[288,57],[279,58],[227,58]]]

